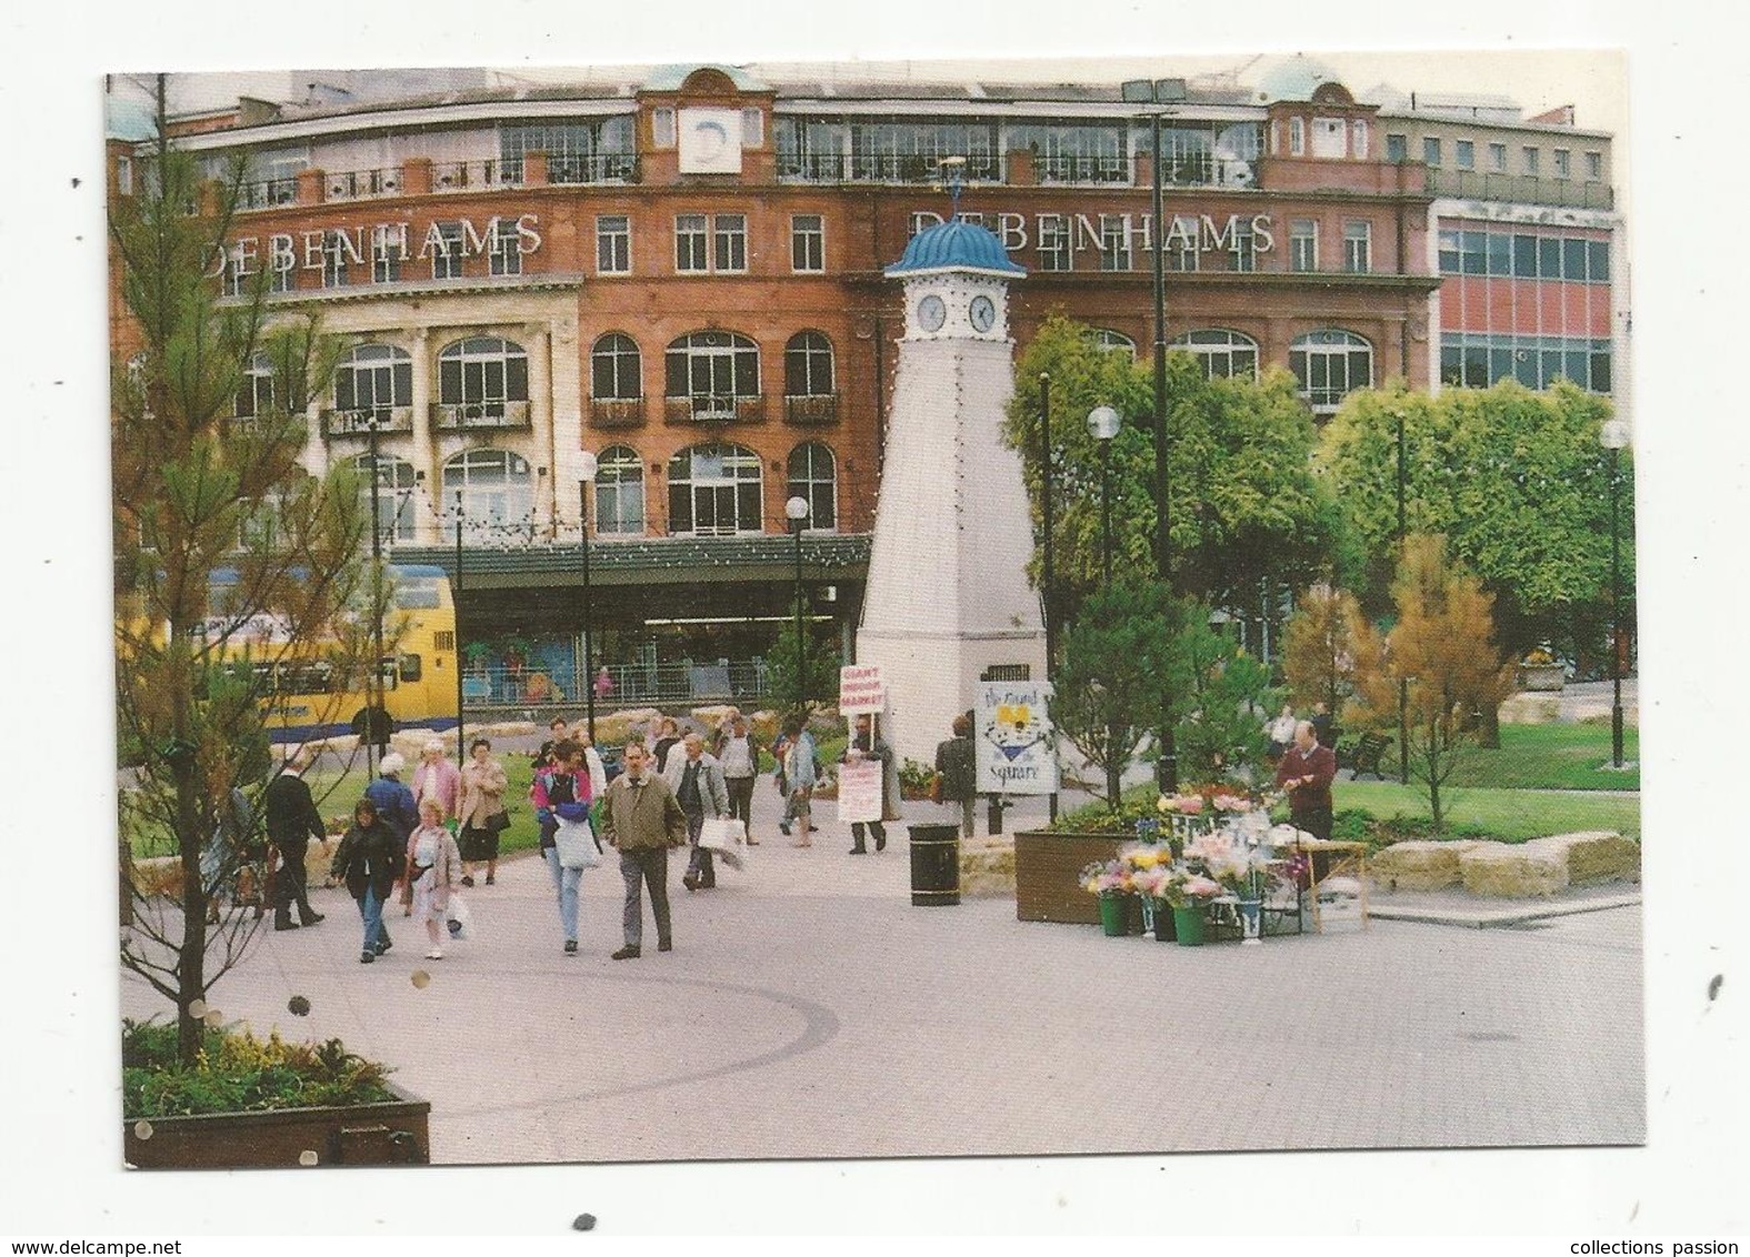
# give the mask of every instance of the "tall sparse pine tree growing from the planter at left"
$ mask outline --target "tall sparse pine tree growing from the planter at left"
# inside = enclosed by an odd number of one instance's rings
[[[140,191],[110,226],[131,318],[110,416],[117,724],[135,778],[122,836],[168,850],[180,890],[149,893],[122,851],[133,923],[121,960],[175,1004],[192,1061],[201,1005],[256,930],[236,902],[214,930],[206,918],[259,844],[259,827],[214,836],[231,792],[266,767],[262,691],[290,650],[336,677],[368,670],[382,580],[360,558],[357,477],[318,481],[298,463],[340,346],[313,318],[270,325],[264,273],[220,301],[212,262],[226,257],[242,170],[201,185],[166,136],[163,84],[158,131]],[[201,865],[208,844],[217,874]]]

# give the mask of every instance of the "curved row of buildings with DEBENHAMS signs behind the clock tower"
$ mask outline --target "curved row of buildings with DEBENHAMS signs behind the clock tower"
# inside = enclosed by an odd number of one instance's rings
[[[943,159],[1027,271],[1022,348],[1060,311],[1146,353],[1158,241],[1171,343],[1211,372],[1293,371],[1316,416],[1393,376],[1620,388],[1608,136],[1302,77],[1188,84],[1158,226],[1150,124],[1115,84],[352,75],[172,129],[214,178],[242,163],[215,281],[268,271],[273,308],[352,341],[308,467],[369,460],[374,427],[397,556],[455,566],[460,533],[464,638],[548,643],[576,696],[584,505],[602,657],[630,680],[763,652],[796,584],[793,497],[810,608],[849,650],[905,332],[882,269],[950,213]],[[112,196],[147,135],[117,100]]]

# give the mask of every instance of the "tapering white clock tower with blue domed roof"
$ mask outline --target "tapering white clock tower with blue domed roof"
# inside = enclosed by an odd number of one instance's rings
[[[1026,269],[956,219],[914,236],[887,274],[905,283],[905,337],[858,663],[880,664],[894,752],[933,764],[973,684],[1045,678],[1032,519],[1020,455],[1003,442],[1008,283]]]

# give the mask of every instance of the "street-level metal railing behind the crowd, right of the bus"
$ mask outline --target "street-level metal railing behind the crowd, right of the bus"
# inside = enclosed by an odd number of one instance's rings
[[[765,659],[606,664],[609,684],[595,694],[597,713],[658,703],[752,703],[766,691]],[[597,666],[597,675],[600,666]],[[598,685],[595,678],[590,682]],[[544,706],[581,710],[574,666],[474,664],[462,673],[464,708]]]

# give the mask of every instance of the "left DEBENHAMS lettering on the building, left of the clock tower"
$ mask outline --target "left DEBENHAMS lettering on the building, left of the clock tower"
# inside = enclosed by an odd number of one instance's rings
[[[472,219],[429,222],[425,233],[411,222],[374,222],[362,227],[322,227],[318,231],[276,231],[266,238],[240,236],[214,260],[212,274],[231,267],[233,274],[270,271],[320,271],[329,260],[364,266],[373,260],[410,262],[429,257],[480,257],[485,253],[534,253],[541,248],[541,219],[522,213],[514,219],[492,215],[483,224]]]

